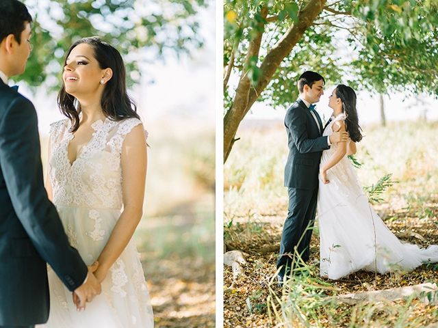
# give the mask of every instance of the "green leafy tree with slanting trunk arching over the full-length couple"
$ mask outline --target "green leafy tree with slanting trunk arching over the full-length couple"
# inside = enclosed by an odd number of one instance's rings
[[[438,0],[224,5],[224,161],[254,102],[290,104],[305,70],[357,90],[438,95]]]

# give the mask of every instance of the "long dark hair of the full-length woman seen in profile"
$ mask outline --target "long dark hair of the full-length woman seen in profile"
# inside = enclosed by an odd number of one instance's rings
[[[348,85],[339,84],[336,87],[335,94],[342,100],[342,111],[345,114],[345,127],[350,135],[350,139],[355,142],[362,140],[362,128],[359,126],[359,118],[356,109],[356,92]]]

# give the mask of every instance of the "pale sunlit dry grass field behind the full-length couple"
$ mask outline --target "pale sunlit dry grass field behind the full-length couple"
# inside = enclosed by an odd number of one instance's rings
[[[384,199],[393,204],[438,193],[438,123],[398,122],[386,128],[365,128],[358,144],[358,169],[363,186],[370,186],[385,174],[402,181],[402,189],[389,188]],[[244,130],[237,135],[224,165],[224,213],[244,216],[276,215],[287,204],[283,187],[287,139],[282,124],[261,131]],[[394,196],[394,197],[392,197]]]

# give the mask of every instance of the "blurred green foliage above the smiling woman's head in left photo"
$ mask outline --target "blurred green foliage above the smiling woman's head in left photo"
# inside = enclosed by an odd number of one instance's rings
[[[196,13],[207,0],[25,0],[34,23],[33,51],[19,79],[31,87],[59,87],[64,54],[86,36],[99,36],[122,53],[128,83],[140,79],[141,49],[153,59],[169,51],[181,55],[203,45]]]

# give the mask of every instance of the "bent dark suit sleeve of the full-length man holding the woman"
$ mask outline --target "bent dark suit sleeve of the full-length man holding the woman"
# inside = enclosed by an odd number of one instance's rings
[[[305,154],[307,152],[321,152],[322,150],[329,149],[330,146],[327,143],[326,136],[309,139],[306,122],[307,118],[300,109],[289,110],[286,114],[285,123],[298,152]]]

